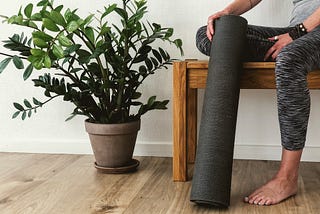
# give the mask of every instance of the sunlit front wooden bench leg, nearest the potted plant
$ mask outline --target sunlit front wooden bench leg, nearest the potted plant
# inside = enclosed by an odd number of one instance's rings
[[[173,64],[173,180],[187,181],[186,62]]]

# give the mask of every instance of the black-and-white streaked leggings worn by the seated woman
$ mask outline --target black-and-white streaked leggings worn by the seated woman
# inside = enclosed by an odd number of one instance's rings
[[[274,44],[267,38],[287,33],[290,29],[249,25],[244,60],[263,61],[265,53]],[[211,44],[206,36],[206,26],[198,30],[196,45],[203,54],[209,56]],[[304,148],[310,113],[307,74],[316,67],[320,67],[320,28],[285,46],[276,59],[281,144],[287,150]]]

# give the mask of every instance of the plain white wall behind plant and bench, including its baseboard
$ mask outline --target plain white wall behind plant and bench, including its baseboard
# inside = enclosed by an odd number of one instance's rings
[[[37,1],[33,1],[37,2]],[[82,14],[95,12],[108,1],[56,0],[56,4],[80,8]],[[183,39],[185,56],[180,57],[173,47],[168,47],[174,58],[207,59],[195,48],[195,32],[206,23],[207,17],[222,9],[228,0],[149,0],[148,19],[163,26],[174,27],[175,35]],[[27,0],[5,0],[0,14],[13,15]],[[263,1],[253,11],[244,15],[251,24],[285,26],[290,16],[291,1]],[[0,40],[22,28],[0,24]],[[1,48],[0,50],[3,50]],[[3,59],[1,57],[1,59]],[[37,75],[37,72],[34,72]],[[159,98],[172,98],[172,71],[163,70],[144,84],[145,96],[158,95]],[[316,118],[320,116],[318,91],[312,91],[312,112],[304,160],[320,161],[319,127]],[[199,105],[203,92],[200,92]],[[91,153],[88,137],[84,131],[84,118],[78,117],[64,122],[73,106],[61,100],[54,101],[40,109],[26,121],[11,119],[14,112],[12,102],[24,98],[42,97],[32,83],[22,80],[22,73],[13,67],[0,75],[0,151],[49,152],[49,153]],[[172,145],[172,108],[167,111],[154,111],[143,117],[139,133],[137,155],[171,156]],[[201,108],[199,108],[201,109]],[[199,110],[200,113],[200,110]],[[236,134],[236,158],[279,159],[280,135],[274,90],[241,90]]]

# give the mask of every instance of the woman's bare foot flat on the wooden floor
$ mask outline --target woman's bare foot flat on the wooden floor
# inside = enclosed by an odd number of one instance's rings
[[[244,201],[249,204],[272,205],[295,195],[297,191],[297,178],[287,179],[275,177],[271,181],[254,191],[250,196],[245,197]]]

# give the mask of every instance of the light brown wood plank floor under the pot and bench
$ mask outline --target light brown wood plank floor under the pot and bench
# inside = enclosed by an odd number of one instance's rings
[[[190,182],[172,182],[171,158],[137,157],[132,174],[97,173],[91,155],[0,153],[1,214],[320,213],[320,163],[302,163],[299,194],[268,207],[242,197],[267,181],[278,163],[234,161],[227,210],[189,202]]]

